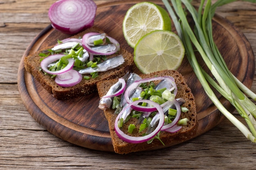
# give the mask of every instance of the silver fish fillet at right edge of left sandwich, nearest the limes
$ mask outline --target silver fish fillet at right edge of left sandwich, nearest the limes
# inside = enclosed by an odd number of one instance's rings
[[[102,62],[101,64],[98,64],[97,67],[95,68],[92,68],[92,67],[84,68],[80,70],[79,73],[90,74],[94,72],[104,72],[104,71],[111,70],[113,68],[117,68],[121,64],[124,64],[124,57],[122,55],[118,55],[116,57],[112,57],[106,60],[105,62]]]

